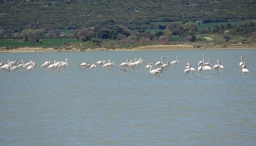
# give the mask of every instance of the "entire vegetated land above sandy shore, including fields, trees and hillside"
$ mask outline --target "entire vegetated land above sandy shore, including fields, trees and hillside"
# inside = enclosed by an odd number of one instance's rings
[[[0,47],[255,43],[255,10],[253,0],[5,0]]]

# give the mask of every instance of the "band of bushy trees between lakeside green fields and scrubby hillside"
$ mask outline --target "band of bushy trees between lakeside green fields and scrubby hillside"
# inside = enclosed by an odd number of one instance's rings
[[[200,22],[197,22],[200,23]],[[43,38],[77,38],[81,42],[93,41],[95,44],[100,44],[103,39],[119,40],[127,43],[135,43],[138,41],[172,41],[173,35],[185,38],[186,42],[200,41],[196,38],[197,34],[214,34],[223,36],[226,42],[237,35],[242,36],[244,40],[255,42],[256,38],[256,23],[254,21],[245,21],[239,26],[232,26],[230,23],[225,25],[215,25],[212,28],[206,27],[198,29],[199,24],[196,23],[166,23],[152,24],[157,31],[150,32],[147,29],[139,29],[136,32],[131,32],[131,28],[124,25],[113,25],[109,27],[90,27],[82,29],[69,30],[69,33],[61,32],[61,30],[47,29],[27,29],[22,32],[5,32],[0,31],[0,38],[22,38],[24,42],[40,42]]]

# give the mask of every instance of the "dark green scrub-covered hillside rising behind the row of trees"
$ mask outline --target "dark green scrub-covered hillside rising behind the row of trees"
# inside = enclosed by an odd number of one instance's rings
[[[131,29],[152,22],[256,19],[255,0],[1,0],[0,30],[70,29],[124,24]]]

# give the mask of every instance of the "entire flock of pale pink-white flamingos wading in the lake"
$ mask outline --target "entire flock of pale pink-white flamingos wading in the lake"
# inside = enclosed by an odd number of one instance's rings
[[[219,70],[223,69],[224,66],[221,64],[220,59],[216,61],[216,64],[212,66],[211,68],[211,59],[208,59],[208,62],[204,62],[204,57],[205,55],[202,54],[202,61],[199,61],[197,63],[198,68],[197,71],[199,72],[199,75],[201,74],[202,71],[206,72],[206,76],[208,76],[208,72],[211,70],[214,70],[214,76],[219,75]],[[164,71],[167,71],[168,68],[170,68],[171,65],[174,66],[179,64],[179,56],[176,56],[176,60],[171,61],[171,62],[164,62],[163,60],[165,57],[161,56],[160,57],[161,61],[156,61],[155,64],[149,62],[145,68],[148,69],[149,73],[154,74],[155,78],[159,78],[160,74],[163,73]],[[249,73],[249,70],[246,67],[246,62],[244,62],[244,57],[241,56],[241,62],[239,63],[240,70],[246,76],[246,74]],[[143,59],[126,59],[126,61],[121,62],[119,64],[119,69],[122,72],[127,72],[129,69],[130,71],[138,71],[140,66],[143,64]],[[30,60],[25,63],[25,61],[22,59],[21,62],[18,62],[17,60],[11,61],[10,59],[7,60],[7,63],[5,64],[4,62],[0,62],[0,69],[3,70],[3,72],[17,72],[18,69],[25,69],[26,72],[31,72],[35,68],[36,64],[33,60]],[[50,60],[46,59],[44,63],[42,63],[41,68],[42,69],[48,69],[52,72],[63,72],[65,68],[68,66],[68,59],[65,59],[64,61],[53,61],[51,62]],[[96,61],[95,64],[89,64],[89,61],[82,62],[78,65],[79,69],[81,72],[85,72],[88,68],[89,69],[97,69],[97,68],[102,68],[103,70],[108,69],[109,71],[111,68],[115,66],[114,62],[110,62],[110,59],[108,59],[108,62],[106,63],[105,60],[100,60]],[[154,69],[156,67],[156,69]],[[187,62],[185,65],[185,70],[183,71],[185,73],[185,76],[188,77],[189,73],[195,72],[196,69],[192,68],[192,64],[190,62]]]

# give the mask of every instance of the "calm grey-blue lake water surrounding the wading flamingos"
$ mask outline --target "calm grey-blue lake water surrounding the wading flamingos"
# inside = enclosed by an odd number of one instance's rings
[[[184,76],[185,64],[211,58],[225,66]],[[144,69],[164,56],[180,64],[154,77]],[[240,71],[244,56],[250,73]],[[255,146],[256,50],[10,53],[0,61],[37,63],[32,72],[0,70],[0,145]],[[64,61],[63,72],[41,69],[46,59]],[[143,58],[138,71],[119,70]],[[78,65],[108,59],[111,70],[81,72]],[[211,66],[211,67],[212,67]]]

